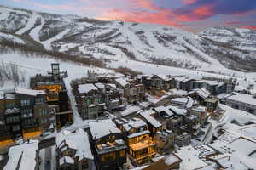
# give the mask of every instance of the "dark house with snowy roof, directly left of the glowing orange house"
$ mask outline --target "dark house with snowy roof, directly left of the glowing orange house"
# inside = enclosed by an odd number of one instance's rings
[[[119,169],[126,162],[124,135],[112,120],[89,122],[90,145],[97,169]]]

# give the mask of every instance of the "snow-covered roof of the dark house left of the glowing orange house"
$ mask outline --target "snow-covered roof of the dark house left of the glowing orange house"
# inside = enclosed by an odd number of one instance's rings
[[[110,119],[90,122],[89,127],[93,139],[100,139],[110,133],[122,133]]]

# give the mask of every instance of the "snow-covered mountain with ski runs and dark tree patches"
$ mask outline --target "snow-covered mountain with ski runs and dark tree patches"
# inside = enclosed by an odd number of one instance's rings
[[[245,29],[216,27],[193,34],[169,26],[0,6],[0,39],[105,60],[256,71],[256,32]]]

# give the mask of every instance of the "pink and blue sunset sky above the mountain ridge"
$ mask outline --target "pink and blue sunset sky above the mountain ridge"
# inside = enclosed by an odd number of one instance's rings
[[[256,30],[256,0],[1,0],[0,4],[100,20],[155,23],[192,32],[212,26]]]

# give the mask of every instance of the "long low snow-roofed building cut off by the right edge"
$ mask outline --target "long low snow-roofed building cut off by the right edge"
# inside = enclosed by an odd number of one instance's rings
[[[235,94],[226,99],[226,105],[256,115],[256,99],[249,94]]]

